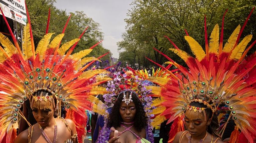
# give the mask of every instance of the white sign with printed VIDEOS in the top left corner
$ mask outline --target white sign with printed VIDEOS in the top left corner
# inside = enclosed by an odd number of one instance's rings
[[[27,14],[25,0],[0,0],[0,8],[5,17],[26,25]],[[0,14],[2,15],[1,11]]]

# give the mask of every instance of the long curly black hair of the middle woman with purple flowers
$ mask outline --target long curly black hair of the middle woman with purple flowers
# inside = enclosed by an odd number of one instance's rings
[[[129,97],[130,91],[125,91],[125,95]],[[119,109],[121,106],[121,103],[124,102],[123,100],[123,92],[119,94],[119,97],[117,101],[115,102],[114,106],[112,107],[112,110],[109,114],[109,121],[107,126],[108,127],[120,127],[122,117],[120,115]],[[141,132],[141,130],[147,125],[147,119],[148,117],[146,116],[146,112],[144,111],[143,105],[140,102],[140,99],[138,96],[134,93],[132,93],[132,101],[135,104],[136,108],[136,114],[134,118],[134,127],[135,130],[138,132]]]

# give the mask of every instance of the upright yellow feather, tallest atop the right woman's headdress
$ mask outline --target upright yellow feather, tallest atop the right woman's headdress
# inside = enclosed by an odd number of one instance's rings
[[[209,53],[218,54],[219,51],[219,26],[216,24],[212,30],[209,43]]]

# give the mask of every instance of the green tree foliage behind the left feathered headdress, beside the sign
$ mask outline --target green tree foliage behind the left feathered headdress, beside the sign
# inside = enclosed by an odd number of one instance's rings
[[[62,33],[69,15],[67,15],[65,11],[57,9],[54,6],[55,2],[55,0],[26,0],[35,45],[37,45],[40,39],[45,35],[49,8],[51,9],[51,18],[48,32],[55,32],[55,36]],[[73,53],[88,49],[103,40],[103,33],[99,28],[99,23],[87,17],[83,11],[76,11],[75,13],[70,14],[71,18],[66,28],[62,44],[71,39],[78,38],[81,33],[89,27],[78,42]],[[102,44],[99,44],[92,50],[89,56],[99,57],[106,52],[110,51],[104,48]],[[101,60],[110,60],[110,56],[111,53]]]

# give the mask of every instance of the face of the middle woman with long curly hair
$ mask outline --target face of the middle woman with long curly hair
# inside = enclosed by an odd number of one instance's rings
[[[122,101],[119,112],[124,122],[132,122],[134,121],[136,114],[135,104],[133,102],[130,102],[127,105],[124,103],[124,101]]]

